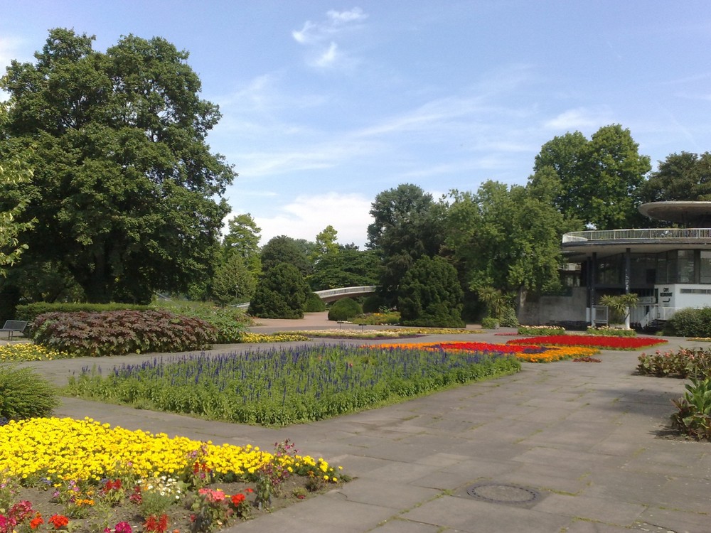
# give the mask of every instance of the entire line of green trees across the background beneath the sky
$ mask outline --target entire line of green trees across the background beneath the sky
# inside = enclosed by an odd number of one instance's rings
[[[563,232],[648,225],[643,201],[711,198],[710,154],[672,154],[650,174],[613,124],[548,141],[525,185],[488,181],[437,200],[409,183],[379,193],[365,250],[338,244],[330,225],[314,242],[260,247],[249,214],[223,238],[236,173],[206,143],[220,112],[201,99],[188,53],[162,38],[123,37],[105,53],[93,41],[52,30],[33,62],[13,61],[0,80],[10,95],[0,114],[4,302],[144,303],[170,291],[232,303],[287,263],[309,290],[378,284],[383,305],[410,315],[456,307],[454,271],[472,314],[481,301],[555,290]],[[433,280],[441,290],[425,294]]]

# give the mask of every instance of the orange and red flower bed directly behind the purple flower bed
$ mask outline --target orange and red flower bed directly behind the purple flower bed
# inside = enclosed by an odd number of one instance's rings
[[[410,343],[410,344],[385,344],[382,348],[409,349],[419,347],[422,350],[449,350],[472,353],[484,353],[489,355],[514,355],[517,359],[528,362],[552,362],[572,357],[589,357],[597,354],[599,350],[595,348],[582,348],[577,346],[555,347],[537,345],[504,345],[492,343]]]

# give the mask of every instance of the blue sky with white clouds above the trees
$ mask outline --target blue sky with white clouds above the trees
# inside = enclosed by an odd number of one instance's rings
[[[0,68],[49,28],[188,50],[208,136],[264,244],[365,244],[375,195],[525,184],[540,147],[621,124],[653,164],[711,149],[705,0],[0,0]]]

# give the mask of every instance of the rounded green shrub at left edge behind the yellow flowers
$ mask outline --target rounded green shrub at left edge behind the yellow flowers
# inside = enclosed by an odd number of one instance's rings
[[[0,419],[50,416],[58,403],[54,387],[31,368],[0,365]]]

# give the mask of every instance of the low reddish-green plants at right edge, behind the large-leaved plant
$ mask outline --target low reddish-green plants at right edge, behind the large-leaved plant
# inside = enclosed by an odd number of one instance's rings
[[[642,353],[638,357],[637,372],[657,377],[711,377],[711,350],[708,348],[680,348],[676,351]]]

